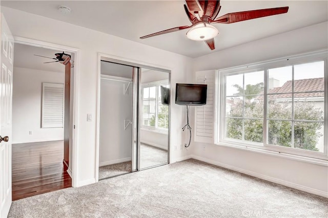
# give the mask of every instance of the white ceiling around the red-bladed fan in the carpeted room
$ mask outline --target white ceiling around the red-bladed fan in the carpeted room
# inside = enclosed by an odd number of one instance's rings
[[[219,35],[211,51],[202,41],[186,37],[188,30],[139,37],[190,25],[185,1],[1,1],[1,5],[74,25],[94,29],[189,57],[199,57],[260,38],[319,24],[328,20],[328,1],[221,1],[219,16],[226,13],[289,6],[289,12],[234,24],[215,24]],[[70,14],[57,8],[65,5]]]

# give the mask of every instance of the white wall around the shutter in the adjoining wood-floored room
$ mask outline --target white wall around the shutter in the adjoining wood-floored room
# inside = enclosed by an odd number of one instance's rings
[[[42,83],[64,83],[63,72],[14,68],[12,100],[12,143],[64,139],[64,128],[41,128]],[[32,131],[32,135],[29,135]]]

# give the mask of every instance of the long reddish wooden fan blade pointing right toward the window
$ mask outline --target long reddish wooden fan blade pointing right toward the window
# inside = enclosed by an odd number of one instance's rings
[[[241,12],[229,13],[220,16],[216,20],[213,20],[211,23],[232,24],[243,20],[287,13],[288,8],[289,7],[267,8],[267,9],[253,10],[253,11],[241,11]]]

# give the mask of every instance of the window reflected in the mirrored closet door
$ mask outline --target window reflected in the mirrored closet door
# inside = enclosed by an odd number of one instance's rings
[[[160,86],[168,88],[168,80],[141,85],[144,128],[167,130],[169,127],[169,107],[161,103]]]

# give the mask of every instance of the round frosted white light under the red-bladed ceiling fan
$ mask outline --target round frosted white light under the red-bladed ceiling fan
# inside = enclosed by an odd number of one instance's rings
[[[195,41],[205,41],[214,38],[219,31],[207,22],[199,22],[193,26],[188,32],[187,37]]]

